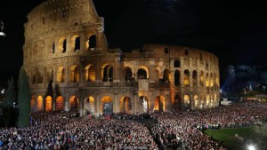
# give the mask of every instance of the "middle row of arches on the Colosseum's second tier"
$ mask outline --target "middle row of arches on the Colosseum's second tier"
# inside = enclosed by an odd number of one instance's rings
[[[113,66],[110,64],[105,64],[101,67],[101,81],[102,82],[113,82]],[[169,69],[165,69],[163,71],[163,75],[160,75],[159,71],[156,70],[158,75],[159,82],[170,82],[171,81],[171,71]],[[93,64],[86,65],[84,67],[84,80],[85,82],[94,82],[96,80],[97,72],[96,67]],[[39,73],[38,69],[35,69],[34,75],[32,75],[32,83],[43,83],[44,78],[43,74]],[[133,73],[131,67],[124,68],[124,75],[126,82],[132,82],[137,79],[149,79],[150,71],[148,67],[141,66],[137,70],[137,75]],[[53,72],[50,78],[53,77]],[[183,78],[182,78],[183,77]],[[69,67],[69,83],[78,83],[80,80],[80,71],[77,65],[73,65]],[[37,82],[38,81],[38,82]],[[58,83],[66,83],[66,72],[64,67],[58,67],[56,70],[56,81]],[[183,81],[183,83],[182,83]],[[188,69],[181,71],[178,69],[174,70],[174,85],[184,85],[190,86],[190,82],[192,82],[192,86],[200,86],[206,87],[219,87],[219,76],[213,73],[204,74],[203,71],[200,71],[199,74],[197,70],[193,70],[191,73]]]

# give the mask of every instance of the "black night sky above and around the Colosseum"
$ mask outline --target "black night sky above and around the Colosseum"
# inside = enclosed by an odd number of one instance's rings
[[[6,37],[0,37],[0,86],[16,79],[22,65],[23,24],[44,0],[8,1],[0,5]],[[267,8],[257,1],[93,0],[105,19],[109,48],[122,51],[144,43],[195,47],[213,52],[220,67],[266,66]],[[221,71],[223,74],[223,71]],[[221,76],[222,76],[221,74]]]

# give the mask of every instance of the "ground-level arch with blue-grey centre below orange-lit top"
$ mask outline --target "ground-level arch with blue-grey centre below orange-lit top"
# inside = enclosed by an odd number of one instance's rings
[[[105,96],[101,99],[101,113],[112,114],[113,113],[113,101],[109,96]]]

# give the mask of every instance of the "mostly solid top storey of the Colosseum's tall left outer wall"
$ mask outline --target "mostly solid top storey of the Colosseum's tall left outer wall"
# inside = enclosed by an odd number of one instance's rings
[[[47,0],[28,13],[24,24],[28,40],[61,28],[101,24],[92,0]]]

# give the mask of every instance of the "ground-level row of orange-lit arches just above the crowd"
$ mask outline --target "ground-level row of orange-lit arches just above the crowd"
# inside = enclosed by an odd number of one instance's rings
[[[206,99],[200,98],[198,99],[198,95],[194,95],[193,98],[190,98],[190,95],[185,94],[183,99],[181,99],[178,95],[175,96],[175,103],[173,108],[181,110],[183,107],[193,107],[195,109],[201,109],[206,107],[216,107],[217,106],[217,96],[214,95],[206,95]],[[33,96],[31,99],[31,111],[32,112],[52,112],[52,111],[77,111],[82,114],[111,114],[117,112],[114,110],[113,104],[114,100],[110,96],[103,96],[100,99],[100,105],[97,108],[96,99],[92,96],[85,98],[84,100],[78,99],[76,95],[73,95],[69,98],[69,100],[65,100],[62,96],[59,96],[53,102],[53,98],[51,96],[47,96],[43,99],[42,96]],[[134,100],[128,96],[122,97],[118,102],[118,112],[119,113],[127,113],[133,114],[134,112]],[[164,96],[159,95],[151,101],[146,96],[141,96],[137,100],[137,106],[140,106],[143,112],[151,112],[151,111],[162,111],[165,112],[166,107],[166,99]],[[151,109],[152,106],[152,110]]]

